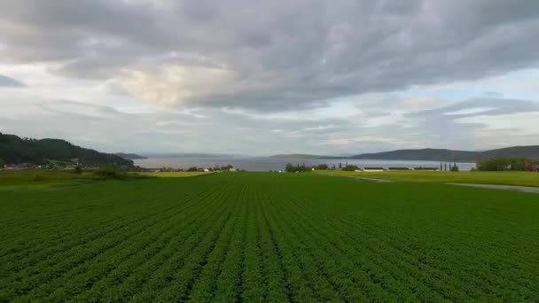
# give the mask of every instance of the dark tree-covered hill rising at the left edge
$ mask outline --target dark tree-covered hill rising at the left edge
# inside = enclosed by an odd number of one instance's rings
[[[133,161],[119,156],[82,148],[59,139],[28,139],[0,133],[0,159],[8,164],[45,164],[50,160],[72,162],[84,166],[132,167]]]

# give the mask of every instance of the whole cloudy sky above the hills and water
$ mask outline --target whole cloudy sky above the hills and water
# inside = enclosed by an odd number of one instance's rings
[[[536,0],[0,0],[0,132],[268,155],[539,144]]]

